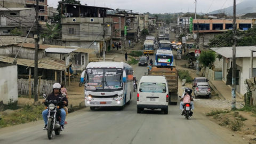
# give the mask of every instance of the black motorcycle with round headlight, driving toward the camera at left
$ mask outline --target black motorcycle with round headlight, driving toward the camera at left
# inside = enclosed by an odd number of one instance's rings
[[[46,99],[46,94],[43,94],[43,97]],[[66,94],[62,94],[61,101],[59,102],[57,100],[50,100],[50,101],[46,100],[44,102],[44,105],[48,109],[47,136],[49,140],[52,139],[53,137],[53,131],[55,135],[60,134],[61,117],[60,117],[59,105],[63,105],[62,99],[64,97],[66,97]]]

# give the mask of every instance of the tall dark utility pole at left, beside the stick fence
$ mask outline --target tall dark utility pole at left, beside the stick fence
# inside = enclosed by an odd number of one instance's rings
[[[34,101],[38,101],[38,48],[39,48],[39,22],[38,22],[38,13],[39,13],[39,0],[36,0],[36,35],[35,38],[35,67],[34,67]]]

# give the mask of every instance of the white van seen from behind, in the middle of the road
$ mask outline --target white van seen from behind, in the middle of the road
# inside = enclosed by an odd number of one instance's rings
[[[137,93],[137,113],[161,109],[168,114],[169,89],[165,76],[142,76]]]

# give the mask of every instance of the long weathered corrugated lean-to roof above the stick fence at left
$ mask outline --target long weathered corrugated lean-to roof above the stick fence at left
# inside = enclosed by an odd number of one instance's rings
[[[13,59],[14,58],[11,58],[11,57],[0,56],[1,62],[11,63]],[[20,66],[26,66],[27,68],[35,67],[34,60],[17,59],[16,61],[17,61],[17,65],[20,65]],[[38,68],[42,68],[42,69],[65,70],[71,64],[72,62],[69,62],[69,65],[66,67],[66,61],[53,59],[49,57],[45,57],[43,59],[38,60]]]

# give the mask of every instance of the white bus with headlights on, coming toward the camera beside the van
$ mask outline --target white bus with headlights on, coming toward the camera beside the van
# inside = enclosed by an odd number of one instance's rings
[[[85,106],[117,106],[130,104],[133,92],[133,69],[124,62],[90,62],[83,71]]]

